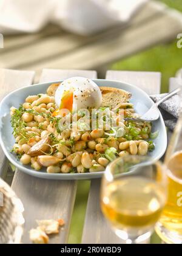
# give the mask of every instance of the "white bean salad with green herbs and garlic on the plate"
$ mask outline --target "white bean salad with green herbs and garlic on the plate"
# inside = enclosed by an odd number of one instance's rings
[[[124,117],[135,116],[131,103],[121,108]],[[12,153],[23,165],[30,164],[36,171],[42,167],[47,168],[47,173],[104,171],[116,157],[144,156],[155,148],[151,139],[157,132],[151,133],[150,122],[123,120],[118,123],[119,129],[122,128],[119,136],[113,127],[109,131],[104,128],[60,130],[58,121],[62,117],[55,116],[55,111],[55,97],[48,94],[30,95],[18,109],[10,109],[15,136]],[[112,113],[116,119],[118,112]]]

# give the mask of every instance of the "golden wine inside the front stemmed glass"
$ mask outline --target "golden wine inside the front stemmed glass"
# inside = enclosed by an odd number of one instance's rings
[[[107,185],[101,208],[116,229],[153,226],[160,218],[166,195],[157,182],[127,177]]]

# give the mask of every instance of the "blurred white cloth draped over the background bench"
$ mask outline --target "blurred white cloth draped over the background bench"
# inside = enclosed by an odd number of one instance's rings
[[[37,32],[55,22],[89,35],[120,22],[149,0],[1,0],[0,33]]]

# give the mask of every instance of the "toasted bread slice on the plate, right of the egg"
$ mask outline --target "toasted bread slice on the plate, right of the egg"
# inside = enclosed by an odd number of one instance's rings
[[[122,103],[126,103],[132,97],[130,92],[122,89],[112,87],[100,87],[103,95],[103,107],[109,107],[110,109],[120,108]]]

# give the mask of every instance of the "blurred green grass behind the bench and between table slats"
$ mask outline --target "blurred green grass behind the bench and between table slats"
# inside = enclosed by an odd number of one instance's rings
[[[182,0],[161,0],[160,2],[164,2],[169,5],[169,7],[182,12]],[[175,76],[175,73],[181,67],[182,49],[177,48],[177,39],[174,39],[174,41],[169,44],[161,44],[153,47],[152,49],[133,55],[132,57],[118,61],[113,64],[110,69],[160,71],[162,74],[161,92],[167,92],[169,78]],[[78,182],[78,192],[76,195],[73,218],[70,226],[69,243],[81,242],[89,187],[89,181]],[[160,240],[156,235],[152,236],[152,243],[158,243],[159,241]]]

